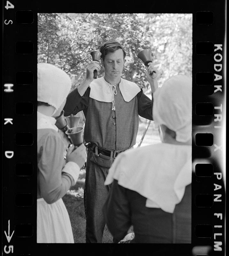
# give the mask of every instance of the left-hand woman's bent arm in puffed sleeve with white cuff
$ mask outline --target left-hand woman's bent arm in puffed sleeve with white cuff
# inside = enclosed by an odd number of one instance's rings
[[[73,162],[65,164],[64,150],[63,141],[53,133],[49,134],[42,143],[38,162],[38,187],[41,196],[48,204],[62,198],[79,176],[80,167],[77,164]],[[65,169],[71,169],[73,175],[64,172]]]

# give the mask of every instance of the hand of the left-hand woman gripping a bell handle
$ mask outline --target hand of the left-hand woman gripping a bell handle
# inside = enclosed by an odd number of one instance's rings
[[[79,165],[80,169],[86,162],[87,153],[86,147],[84,144],[81,144],[78,148],[74,150],[74,145],[72,145],[66,154],[66,163],[67,162],[75,162]]]

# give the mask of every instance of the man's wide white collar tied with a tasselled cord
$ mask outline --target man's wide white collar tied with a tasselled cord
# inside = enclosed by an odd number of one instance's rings
[[[102,102],[112,102],[114,90],[111,90],[104,76],[93,80],[90,84],[90,88],[90,98]],[[121,78],[119,83],[119,89],[126,102],[132,100],[138,92],[141,91],[137,84],[123,78]]]

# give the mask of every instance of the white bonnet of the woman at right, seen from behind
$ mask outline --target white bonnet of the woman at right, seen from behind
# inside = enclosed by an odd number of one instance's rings
[[[153,94],[153,119],[156,127],[166,125],[176,132],[176,140],[192,137],[192,79],[177,75],[168,79]]]

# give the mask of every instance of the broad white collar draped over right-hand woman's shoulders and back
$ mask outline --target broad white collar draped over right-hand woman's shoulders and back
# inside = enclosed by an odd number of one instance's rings
[[[115,159],[104,185],[114,179],[146,197],[146,207],[172,213],[192,180],[192,146],[159,143],[129,149]]]

